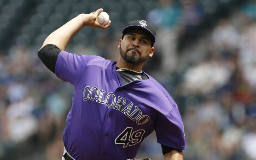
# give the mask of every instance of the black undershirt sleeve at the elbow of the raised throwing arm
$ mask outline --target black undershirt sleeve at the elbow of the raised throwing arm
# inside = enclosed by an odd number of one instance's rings
[[[37,55],[44,63],[44,65],[53,73],[55,73],[55,65],[59,55],[60,49],[53,44],[47,44],[41,48]]]

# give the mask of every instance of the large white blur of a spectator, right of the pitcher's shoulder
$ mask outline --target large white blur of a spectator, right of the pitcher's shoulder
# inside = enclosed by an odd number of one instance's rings
[[[184,89],[200,94],[216,91],[229,80],[233,70],[234,66],[229,59],[210,53],[209,57],[186,71]]]

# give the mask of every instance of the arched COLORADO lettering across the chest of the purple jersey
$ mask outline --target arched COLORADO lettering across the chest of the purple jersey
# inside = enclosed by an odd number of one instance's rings
[[[103,98],[103,95],[105,98]],[[84,88],[83,100],[96,101],[101,104],[106,104],[109,108],[121,111],[124,115],[129,117],[131,120],[136,121],[137,125],[145,124],[149,121],[148,115],[142,115],[141,109],[135,105],[133,107],[133,102],[126,105],[126,99],[121,96],[114,95],[113,92],[106,93],[106,91],[98,89],[97,87],[90,88],[89,86]],[[103,100],[102,100],[103,98]],[[126,105],[124,108],[123,106]],[[115,107],[114,107],[115,106]]]

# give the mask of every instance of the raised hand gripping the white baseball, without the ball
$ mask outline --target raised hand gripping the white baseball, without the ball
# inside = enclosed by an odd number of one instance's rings
[[[89,26],[89,27],[95,27],[95,28],[101,28],[105,29],[107,28],[111,21],[108,22],[106,25],[101,25],[100,23],[97,22],[97,17],[98,15],[103,11],[102,8],[98,9],[95,12],[91,12],[90,14],[81,14],[81,16],[84,17],[84,26]]]

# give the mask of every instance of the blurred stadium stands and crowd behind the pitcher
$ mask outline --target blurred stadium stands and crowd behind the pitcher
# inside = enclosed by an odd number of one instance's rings
[[[57,160],[72,85],[37,50],[79,13],[108,12],[106,30],[84,27],[67,51],[116,60],[121,30],[146,19],[158,32],[144,71],[177,102],[186,160],[256,160],[256,0],[0,0],[0,159]],[[111,149],[111,148],[110,148]],[[156,136],[138,158],[163,159]]]

